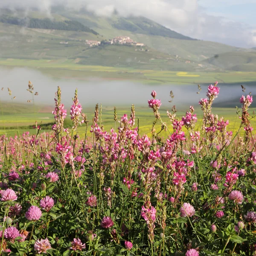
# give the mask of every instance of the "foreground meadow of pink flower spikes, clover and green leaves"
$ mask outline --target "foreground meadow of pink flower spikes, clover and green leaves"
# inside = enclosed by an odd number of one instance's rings
[[[252,96],[240,99],[241,137],[212,114],[219,90],[217,82],[210,85],[199,102],[199,130],[192,106],[180,120],[175,108],[167,111],[169,122],[163,122],[152,91],[150,140],[138,135],[134,105],[130,118],[118,122],[115,109],[109,132],[96,105],[89,136],[77,90],[72,128],[64,128],[67,110],[58,88],[52,133],[40,134],[36,125],[36,135],[0,138],[2,253],[255,255]],[[84,139],[76,134],[79,120]],[[161,131],[169,136],[161,138]]]

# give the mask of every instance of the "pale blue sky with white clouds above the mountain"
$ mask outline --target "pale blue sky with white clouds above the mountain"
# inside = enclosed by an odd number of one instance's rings
[[[256,0],[0,0],[0,7],[51,6],[87,10],[109,16],[141,15],[183,35],[236,47],[256,47]]]

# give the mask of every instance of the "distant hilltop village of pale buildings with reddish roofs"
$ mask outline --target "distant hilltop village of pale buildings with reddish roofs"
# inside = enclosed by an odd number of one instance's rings
[[[137,43],[136,41],[132,40],[128,36],[117,36],[110,40],[103,40],[103,41],[93,41],[93,40],[85,40],[86,44],[90,47],[98,46],[100,44],[114,44],[114,45],[132,45],[132,46],[139,46],[143,47],[144,44]]]

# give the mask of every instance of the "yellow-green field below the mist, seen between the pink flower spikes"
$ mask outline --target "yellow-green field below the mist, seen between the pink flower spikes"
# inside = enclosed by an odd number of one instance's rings
[[[19,105],[19,104],[17,104]],[[22,104],[20,104],[22,105]],[[31,108],[27,105],[23,105],[23,108],[20,108],[20,111],[12,110],[13,108],[6,108],[8,104],[2,105],[3,114],[0,115],[0,134],[8,134],[9,136],[14,136],[15,134],[22,134],[24,131],[29,131],[30,133],[35,133],[35,129],[32,128],[35,125],[35,121],[37,121],[38,125],[42,124],[42,131],[49,132],[51,131],[51,126],[55,122],[54,117],[50,111],[44,111],[44,113],[33,113]],[[17,107],[17,106],[16,106]],[[53,108],[53,107],[52,107]],[[66,106],[69,109],[68,106]],[[11,111],[10,111],[11,109]],[[16,108],[15,108],[16,109]],[[42,111],[44,108],[38,108],[39,111]],[[47,108],[49,109],[49,108]],[[169,123],[169,119],[166,116],[166,108],[160,108],[160,114],[164,122]],[[250,109],[250,113],[253,113],[253,110]],[[84,113],[87,115],[87,120],[89,121],[89,130],[90,125],[92,123],[92,119],[94,116],[94,108],[83,108]],[[169,109],[170,111],[170,109]],[[67,111],[68,112],[68,111]],[[218,114],[219,117],[223,116],[225,119],[229,119],[230,125],[228,126],[229,131],[236,132],[240,126],[240,119],[236,114],[236,108],[213,108],[213,113]],[[128,117],[130,116],[130,107],[117,107],[117,114],[118,120],[123,114],[127,114]],[[201,127],[201,119],[203,117],[202,111],[200,108],[196,108],[195,113],[197,113],[198,122],[196,128],[200,129]],[[186,109],[178,109],[176,113],[178,118],[180,119],[183,115],[186,114]],[[136,107],[135,106],[135,115],[136,119],[139,118],[139,129],[140,134],[147,134],[148,136],[151,135],[151,127],[154,121],[154,114],[152,110],[147,107]],[[104,129],[109,131],[111,127],[115,126],[115,122],[113,120],[113,108],[102,107],[102,124],[104,125]],[[119,123],[116,122],[116,129]],[[137,120],[136,120],[137,125]],[[256,125],[256,119],[251,119],[251,125]],[[69,116],[65,119],[65,127],[72,127],[72,122]],[[157,131],[160,131],[160,125],[156,126]],[[184,130],[185,131],[185,130]],[[85,125],[79,125],[77,132],[83,136],[85,132]],[[162,136],[165,136],[165,132],[161,133]]]

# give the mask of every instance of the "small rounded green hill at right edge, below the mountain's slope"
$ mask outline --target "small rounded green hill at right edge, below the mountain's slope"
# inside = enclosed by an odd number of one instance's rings
[[[256,72],[256,52],[225,52],[207,59],[205,62],[224,70]]]

